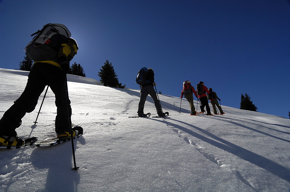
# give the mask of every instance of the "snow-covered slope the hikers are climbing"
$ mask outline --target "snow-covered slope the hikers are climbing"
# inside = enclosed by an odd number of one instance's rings
[[[25,88],[28,72],[0,69],[0,117]],[[222,106],[225,115],[190,116],[189,103],[161,95],[170,116],[137,114],[139,90],[100,86],[68,75],[72,121],[84,128],[71,143],[0,150],[0,191],[289,191],[290,120]],[[44,94],[44,93],[43,93]],[[17,128],[19,137],[55,136],[56,107],[48,89]],[[222,98],[222,97],[221,97]],[[222,101],[221,101],[222,102]],[[197,105],[195,101],[195,106]],[[199,105],[198,105],[199,110]],[[145,111],[156,114],[151,97]]]

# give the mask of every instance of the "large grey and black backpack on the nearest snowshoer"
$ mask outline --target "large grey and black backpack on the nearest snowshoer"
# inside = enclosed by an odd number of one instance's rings
[[[59,47],[70,38],[71,33],[63,24],[48,23],[31,36],[34,35],[24,51],[32,61],[47,61],[57,57]]]

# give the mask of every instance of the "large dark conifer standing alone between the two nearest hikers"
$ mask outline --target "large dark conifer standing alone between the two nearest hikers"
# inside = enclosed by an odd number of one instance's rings
[[[122,89],[124,89],[126,86],[122,85],[122,83],[119,83],[117,78],[118,75],[116,75],[114,67],[112,66],[112,63],[109,63],[108,59],[106,59],[102,69],[100,69],[100,72],[98,72],[98,76],[101,78],[100,82],[103,83],[104,86],[117,87]]]

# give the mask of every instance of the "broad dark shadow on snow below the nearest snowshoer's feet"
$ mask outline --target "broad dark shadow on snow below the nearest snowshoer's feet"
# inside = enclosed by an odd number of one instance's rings
[[[74,141],[75,150],[77,142],[85,143],[83,137]],[[72,159],[73,152],[70,141],[51,147],[36,147],[32,151],[31,162],[35,169],[47,170],[43,191],[78,191],[80,175],[78,171],[71,170],[74,167]],[[77,166],[80,166],[78,153],[76,153],[76,162]]]

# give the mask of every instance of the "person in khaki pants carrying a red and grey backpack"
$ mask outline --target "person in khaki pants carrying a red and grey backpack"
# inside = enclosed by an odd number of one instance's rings
[[[184,95],[184,97],[186,98],[186,100],[188,100],[189,105],[190,105],[190,110],[191,110],[190,115],[197,115],[194,104],[193,104],[193,94],[197,97],[196,91],[191,86],[190,81],[184,81],[180,98],[182,98]]]

